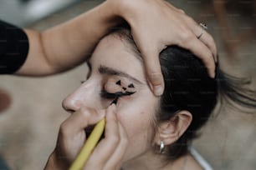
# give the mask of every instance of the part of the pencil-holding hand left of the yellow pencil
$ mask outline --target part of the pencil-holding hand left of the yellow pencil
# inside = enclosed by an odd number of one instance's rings
[[[45,169],[68,169],[84,145],[84,128],[99,122],[105,112],[82,107],[60,125],[54,152],[50,155]]]

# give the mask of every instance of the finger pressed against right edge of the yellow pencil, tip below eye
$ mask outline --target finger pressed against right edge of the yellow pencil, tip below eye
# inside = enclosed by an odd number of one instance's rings
[[[115,116],[115,104],[108,107],[105,116],[105,138],[100,141],[90,155],[84,169],[103,169],[120,140],[120,133]]]

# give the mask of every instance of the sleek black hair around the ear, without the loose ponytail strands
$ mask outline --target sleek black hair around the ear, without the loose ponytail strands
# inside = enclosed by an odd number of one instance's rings
[[[201,128],[216,106],[218,83],[208,77],[202,62],[181,47],[170,46],[160,53],[161,71],[165,91],[161,97],[158,121],[169,120],[179,110],[192,113],[192,122],[187,131],[169,148],[168,158],[174,159],[187,153],[187,144],[197,137]]]

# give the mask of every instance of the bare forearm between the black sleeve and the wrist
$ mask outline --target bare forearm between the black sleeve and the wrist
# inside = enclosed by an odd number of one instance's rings
[[[44,32],[25,30],[28,58],[18,74],[42,76],[62,72],[83,62],[97,42],[121,19],[104,2],[89,12]]]

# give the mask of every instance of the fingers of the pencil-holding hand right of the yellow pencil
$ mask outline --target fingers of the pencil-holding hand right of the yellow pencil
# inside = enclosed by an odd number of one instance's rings
[[[116,117],[115,104],[106,112],[105,138],[95,148],[84,166],[84,170],[119,170],[128,138],[125,128]]]

